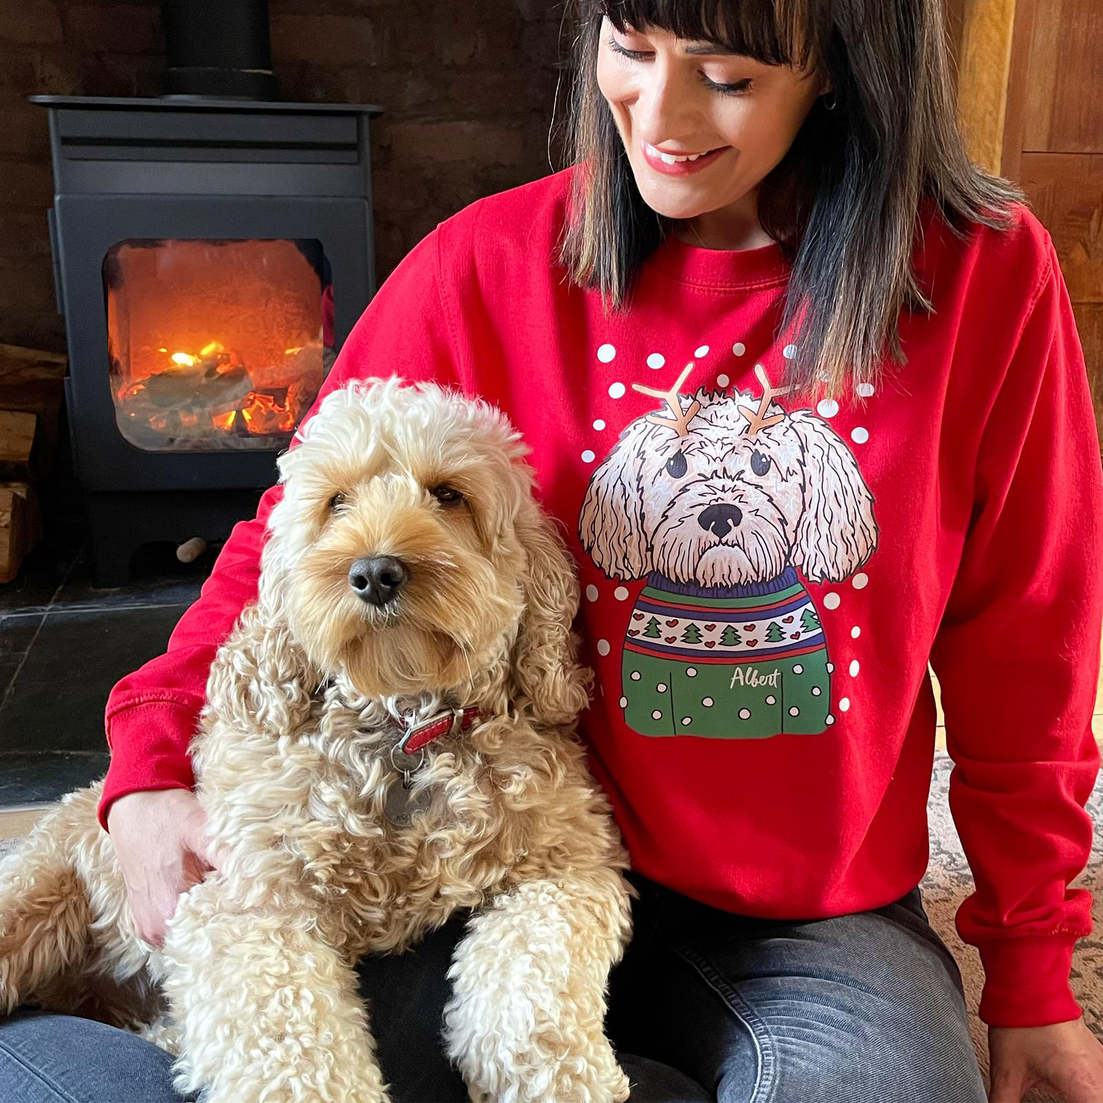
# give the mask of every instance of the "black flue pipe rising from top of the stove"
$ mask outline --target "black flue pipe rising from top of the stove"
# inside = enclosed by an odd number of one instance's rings
[[[164,95],[275,99],[268,0],[161,0]]]

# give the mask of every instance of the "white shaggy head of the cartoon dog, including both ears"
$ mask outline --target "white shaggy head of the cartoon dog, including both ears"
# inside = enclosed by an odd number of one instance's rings
[[[828,426],[774,405],[775,422],[747,433],[750,394],[700,389],[688,400],[696,414],[684,431],[640,417],[595,472],[579,537],[607,575],[727,587],[793,564],[839,580],[868,558],[872,496]]]

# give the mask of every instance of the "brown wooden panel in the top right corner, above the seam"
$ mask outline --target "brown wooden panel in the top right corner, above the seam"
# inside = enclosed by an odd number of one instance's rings
[[[1022,149],[1103,153],[1103,3],[1039,4],[1029,53]]]

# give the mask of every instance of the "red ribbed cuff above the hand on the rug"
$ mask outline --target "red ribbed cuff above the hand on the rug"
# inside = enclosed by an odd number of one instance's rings
[[[1077,938],[1007,938],[982,945],[981,1019],[993,1027],[1042,1027],[1080,1018],[1069,985]]]

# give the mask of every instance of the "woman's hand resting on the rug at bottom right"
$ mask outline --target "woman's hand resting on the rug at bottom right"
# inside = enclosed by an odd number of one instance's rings
[[[1065,1103],[1103,1100],[1103,1046],[1082,1018],[1048,1027],[988,1027],[989,1103],[1048,1088]]]

